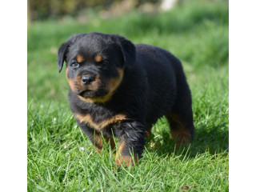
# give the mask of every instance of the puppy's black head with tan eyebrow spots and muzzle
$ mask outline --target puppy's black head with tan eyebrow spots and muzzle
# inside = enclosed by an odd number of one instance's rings
[[[135,61],[134,44],[116,34],[75,34],[58,50],[58,70],[74,94],[86,102],[106,102]]]

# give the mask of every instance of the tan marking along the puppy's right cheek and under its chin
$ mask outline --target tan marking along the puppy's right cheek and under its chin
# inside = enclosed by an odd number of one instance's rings
[[[90,102],[90,103],[94,103],[94,102],[107,102],[110,100],[110,98],[112,97],[112,95],[114,94],[114,90],[116,90],[118,88],[118,86],[120,85],[120,83],[122,82],[122,77],[123,77],[123,70],[122,69],[117,69],[118,70],[118,78],[112,78],[110,79],[109,83],[108,83],[108,87],[107,89],[109,90],[109,93],[106,94],[105,96],[102,97],[97,97],[97,98],[83,98],[81,96],[78,96],[82,101],[85,102]]]

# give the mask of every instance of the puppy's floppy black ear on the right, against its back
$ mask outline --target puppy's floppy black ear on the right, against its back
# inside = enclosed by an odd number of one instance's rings
[[[131,67],[136,59],[136,48],[134,43],[119,35],[115,35],[115,38],[118,40],[118,45],[121,47],[125,66]]]

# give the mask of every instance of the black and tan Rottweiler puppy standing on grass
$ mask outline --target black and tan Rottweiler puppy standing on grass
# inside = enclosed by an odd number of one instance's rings
[[[118,138],[118,164],[142,157],[146,135],[163,115],[175,142],[192,141],[190,89],[168,51],[117,34],[75,34],[58,50],[59,72],[64,61],[74,118],[99,151],[101,134],[113,148]]]

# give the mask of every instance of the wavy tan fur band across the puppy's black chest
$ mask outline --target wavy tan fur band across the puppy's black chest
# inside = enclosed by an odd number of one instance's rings
[[[122,120],[126,119],[126,115],[124,114],[116,114],[111,118],[106,118],[102,122],[94,122],[90,114],[74,114],[74,116],[78,118],[79,122],[86,122],[95,130],[103,130],[106,126],[109,126],[112,123],[122,122]]]

